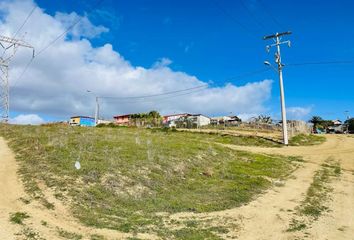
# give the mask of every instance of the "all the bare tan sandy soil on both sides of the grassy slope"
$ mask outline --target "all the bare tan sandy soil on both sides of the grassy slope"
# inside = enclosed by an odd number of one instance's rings
[[[220,222],[235,224],[235,229],[225,235],[225,238],[237,239],[302,239],[301,232],[289,233],[286,229],[293,217],[294,209],[304,199],[316,170],[329,157],[341,163],[342,174],[330,183],[334,188],[329,212],[315,221],[310,228],[305,229],[307,239],[354,239],[354,138],[344,135],[326,136],[327,141],[318,146],[258,148],[227,145],[230,148],[260,152],[265,154],[281,154],[302,156],[306,161],[297,169],[291,178],[284,183],[268,190],[251,203],[234,209],[208,214],[179,213],[172,216],[175,219],[213,218]],[[82,226],[69,211],[55,198],[55,210],[48,210],[39,203],[25,204],[19,200],[25,197],[21,182],[16,174],[17,163],[14,155],[0,138],[0,236],[1,239],[25,239],[17,233],[25,227],[39,232],[45,239],[60,239],[57,228],[69,232],[80,233],[84,239],[91,234],[101,234],[107,239],[124,239],[128,235],[110,230],[97,230]],[[24,211],[31,218],[25,221],[25,226],[10,223],[9,214]],[[48,222],[43,226],[41,221]],[[237,227],[236,227],[237,226]],[[139,238],[154,239],[154,236],[139,235]]]

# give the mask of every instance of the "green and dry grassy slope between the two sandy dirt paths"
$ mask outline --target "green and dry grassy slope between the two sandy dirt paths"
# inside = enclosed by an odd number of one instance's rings
[[[49,211],[60,201],[87,226],[166,239],[227,234],[235,226],[174,222],[169,216],[241,206],[285,179],[299,161],[222,145],[275,145],[254,137],[65,126],[7,125],[0,131],[17,153],[29,194],[24,201]],[[80,239],[65,229],[57,232]]]

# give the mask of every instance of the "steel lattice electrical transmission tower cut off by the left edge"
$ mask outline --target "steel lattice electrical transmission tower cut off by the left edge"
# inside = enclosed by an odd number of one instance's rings
[[[3,54],[0,57],[0,121],[8,122],[10,111],[10,86],[9,86],[9,65],[15,56],[19,47],[34,47],[23,40],[5,37],[0,35],[0,46],[3,48]],[[9,52],[9,53],[8,53]]]

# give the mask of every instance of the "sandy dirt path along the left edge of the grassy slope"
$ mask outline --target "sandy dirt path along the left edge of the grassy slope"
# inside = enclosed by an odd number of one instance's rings
[[[83,226],[75,220],[67,207],[47,193],[48,200],[55,205],[54,210],[43,207],[42,204],[32,201],[25,203],[27,195],[17,175],[15,156],[8,148],[6,142],[0,137],[0,239],[68,239],[61,238],[59,231],[82,235],[82,239],[91,239],[92,235],[104,236],[105,239],[126,239],[131,234],[121,233],[107,229],[95,229]],[[23,225],[10,222],[10,214],[26,212],[30,218]],[[28,236],[34,236],[29,238]],[[138,234],[140,239],[155,239],[148,234]],[[77,238],[69,238],[77,239]]]

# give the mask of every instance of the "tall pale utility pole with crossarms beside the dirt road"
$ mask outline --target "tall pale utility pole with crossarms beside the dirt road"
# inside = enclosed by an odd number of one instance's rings
[[[287,121],[286,121],[286,107],[285,107],[285,97],[284,97],[284,85],[283,85],[283,67],[284,65],[281,62],[281,55],[280,55],[280,45],[281,44],[288,44],[290,47],[290,41],[281,41],[281,37],[285,35],[290,35],[291,32],[283,32],[283,33],[276,33],[274,35],[270,36],[265,36],[263,40],[268,40],[268,39],[273,39],[275,43],[271,45],[267,45],[266,49],[267,52],[270,51],[272,47],[276,47],[277,51],[275,53],[275,63],[278,65],[278,73],[279,73],[279,87],[280,87],[280,101],[281,101],[281,116],[282,116],[282,121],[283,121],[283,143],[285,145],[289,144],[288,141],[288,126],[287,126]],[[266,64],[269,62],[265,62]],[[270,65],[270,64],[269,64]]]

